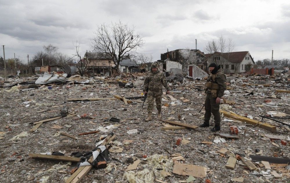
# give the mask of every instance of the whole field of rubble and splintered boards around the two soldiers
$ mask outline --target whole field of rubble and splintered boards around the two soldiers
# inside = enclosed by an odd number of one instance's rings
[[[29,154],[84,154],[109,132],[115,138],[106,168],[91,169],[80,182],[290,181],[290,72],[227,76],[216,133],[213,119],[197,128],[206,79],[168,79],[162,119],[155,108],[153,121],[145,122],[144,73],[40,78],[0,77],[0,182],[65,182],[77,163]]]

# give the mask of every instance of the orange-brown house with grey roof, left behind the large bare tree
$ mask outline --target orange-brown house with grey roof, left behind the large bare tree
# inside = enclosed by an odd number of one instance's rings
[[[88,55],[87,55],[88,53]],[[110,75],[111,69],[115,68],[116,65],[112,58],[106,53],[101,52],[87,52],[84,55],[84,61],[88,61],[88,71],[94,74],[106,74]]]

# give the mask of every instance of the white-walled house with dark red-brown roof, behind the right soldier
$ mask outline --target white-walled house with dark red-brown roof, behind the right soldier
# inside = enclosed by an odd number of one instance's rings
[[[205,54],[209,63],[221,65],[224,73],[247,72],[255,64],[249,51]]]

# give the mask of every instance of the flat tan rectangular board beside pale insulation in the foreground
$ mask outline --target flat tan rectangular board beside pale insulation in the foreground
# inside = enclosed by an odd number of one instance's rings
[[[193,177],[204,178],[206,177],[206,168],[197,165],[178,163],[178,161],[175,161],[173,173],[178,175],[192,175]]]

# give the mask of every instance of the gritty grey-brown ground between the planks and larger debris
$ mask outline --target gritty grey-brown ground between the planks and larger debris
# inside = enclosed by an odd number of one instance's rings
[[[126,75],[121,77],[125,81],[142,81],[144,75],[138,74],[135,77]],[[233,111],[236,114],[260,120],[259,115],[267,115],[269,111],[277,111],[285,115],[277,120],[289,123],[290,119],[290,93],[277,93],[276,90],[290,90],[287,85],[290,81],[283,76],[237,76],[236,79],[242,79],[242,83],[228,82],[228,92],[225,93],[224,100],[233,100],[235,103],[225,105],[224,110]],[[277,78],[281,80],[274,81]],[[24,81],[33,78],[21,78]],[[111,78],[113,81],[116,78]],[[7,78],[3,79],[8,80]],[[258,85],[248,85],[251,81]],[[281,84],[278,85],[277,84]],[[3,82],[2,82],[3,84]],[[7,83],[5,83],[7,84]],[[4,84],[4,85],[5,85]],[[183,83],[171,85],[171,96],[177,100],[171,100],[164,95],[163,104],[168,107],[162,108],[162,119],[169,119],[185,124],[199,126],[203,123],[204,109],[199,113],[204,103],[205,80],[184,79]],[[269,84],[263,86],[260,84]],[[21,85],[21,84],[20,84]],[[234,155],[239,154],[249,158],[250,154],[260,154],[262,156],[290,158],[289,146],[289,126],[279,124],[268,119],[263,122],[276,126],[276,132],[270,132],[258,126],[253,126],[222,116],[220,133],[229,134],[229,126],[236,125],[240,128],[239,139],[223,138],[222,142],[215,143],[217,135],[210,132],[214,123],[211,121],[209,128],[182,129],[182,130],[162,130],[164,122],[157,118],[157,110],[153,114],[153,121],[145,122],[147,115],[147,104],[135,102],[126,105],[121,100],[100,100],[88,102],[68,102],[69,98],[114,98],[114,95],[124,96],[126,98],[141,96],[142,87],[124,88],[119,87],[117,82],[106,82],[93,79],[93,83],[64,83],[64,85],[49,85],[39,88],[41,85],[30,91],[21,91],[26,89],[27,85],[18,86],[19,91],[10,91],[11,87],[0,88],[0,182],[64,182],[71,174],[70,171],[75,168],[76,163],[59,162],[54,160],[32,159],[28,153],[46,153],[62,152],[69,156],[72,152],[91,151],[95,148],[95,143],[100,140],[102,135],[107,135],[113,131],[116,138],[114,145],[122,147],[121,153],[110,153],[108,163],[115,163],[117,169],[108,172],[104,169],[92,169],[81,182],[127,182],[123,175],[126,168],[133,159],[140,159],[141,163],[137,170],[144,169],[147,161],[146,156],[154,154],[163,154],[171,157],[171,154],[181,154],[185,161],[181,163],[198,165],[206,167],[206,177],[198,178],[194,182],[205,182],[205,179],[211,182],[235,182],[233,178],[243,178],[243,182],[288,182],[290,181],[289,169],[285,166],[271,168],[276,170],[282,178],[275,178],[271,171],[267,172],[265,167],[255,163],[257,169],[250,171],[243,162],[238,160],[235,169],[225,167],[228,156],[217,153],[221,148],[226,148]],[[3,85],[2,85],[3,86]],[[251,93],[253,92],[253,93]],[[183,99],[180,99],[183,98]],[[166,101],[167,99],[167,101]],[[189,101],[186,102],[188,99]],[[184,102],[182,102],[184,100]],[[224,102],[223,100],[223,102]],[[139,99],[139,102],[142,100]],[[268,102],[268,103],[267,103]],[[270,104],[269,104],[270,103]],[[33,127],[33,122],[46,119],[60,114],[63,106],[68,107],[68,111],[77,116],[67,116],[49,122],[44,122],[35,132],[29,132]],[[231,107],[228,109],[227,107]],[[44,111],[47,110],[47,111]],[[44,111],[44,112],[41,112]],[[93,119],[83,119],[81,115],[88,115]],[[179,120],[184,118],[184,120]],[[117,122],[120,126],[113,129],[99,130],[100,132],[89,135],[78,135],[83,132],[98,130],[99,127],[106,127],[114,122],[108,121],[110,117],[116,117],[121,120]],[[174,117],[174,118],[173,118]],[[124,120],[126,118],[137,118]],[[227,121],[223,121],[229,119]],[[233,120],[233,121],[231,121]],[[58,125],[54,129],[53,126]],[[128,134],[129,130],[136,129],[137,132]],[[58,132],[66,132],[77,137],[76,140]],[[21,134],[23,137],[12,139]],[[282,135],[285,137],[287,145],[282,145],[281,140],[263,140],[264,135]],[[185,145],[176,145],[177,139],[183,138],[189,143]],[[133,140],[125,145],[124,140]],[[212,144],[202,144],[202,141],[208,141]],[[270,163],[271,164],[271,163]],[[53,169],[51,169],[53,168]],[[290,168],[290,167],[289,167]],[[172,170],[171,170],[172,171]],[[173,172],[171,176],[163,178],[164,182],[180,182],[186,180],[188,176],[182,176]],[[123,180],[122,180],[123,179]],[[155,178],[156,179],[156,178]]]

